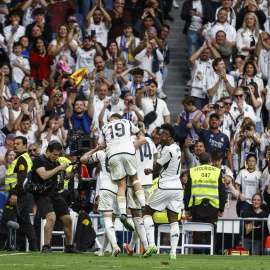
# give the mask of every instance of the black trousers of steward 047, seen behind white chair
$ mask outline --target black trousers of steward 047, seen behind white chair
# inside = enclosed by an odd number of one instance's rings
[[[218,220],[218,209],[213,207],[211,204],[204,206],[203,204],[194,206],[194,222],[211,223],[214,225],[214,243],[216,239],[217,231],[217,220]],[[193,232],[193,243],[194,244],[210,244],[211,233],[210,232]],[[215,250],[215,244],[214,244]],[[202,254],[202,249],[194,249],[194,254]],[[209,250],[206,250],[209,253]]]

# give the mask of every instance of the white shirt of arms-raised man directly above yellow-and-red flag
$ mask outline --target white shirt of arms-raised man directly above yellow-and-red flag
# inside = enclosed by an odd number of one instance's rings
[[[85,51],[84,49],[77,47],[76,50],[76,70],[80,68],[87,68],[87,73],[93,72],[95,65],[94,65],[94,57],[97,54],[97,51],[95,49],[92,49],[91,51]]]

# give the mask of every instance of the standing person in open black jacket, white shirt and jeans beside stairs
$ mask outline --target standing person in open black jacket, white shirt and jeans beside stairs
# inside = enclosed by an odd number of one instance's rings
[[[187,58],[189,60],[197,46],[201,47],[204,42],[204,37],[198,36],[196,32],[203,25],[213,21],[213,11],[209,1],[188,0],[183,4],[181,18],[186,21],[183,33],[187,35]],[[191,80],[191,73],[188,66],[189,80]],[[188,83],[187,86],[191,86],[191,83]]]

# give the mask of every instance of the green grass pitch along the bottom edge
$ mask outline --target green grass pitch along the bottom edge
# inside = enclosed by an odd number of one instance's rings
[[[12,255],[13,254],[13,255]],[[94,253],[55,254],[0,252],[0,269],[270,269],[268,256],[207,256],[207,255],[177,255],[176,261],[170,261],[169,255],[158,254],[150,258],[140,258],[139,255],[128,257],[120,254],[117,258],[95,257]]]

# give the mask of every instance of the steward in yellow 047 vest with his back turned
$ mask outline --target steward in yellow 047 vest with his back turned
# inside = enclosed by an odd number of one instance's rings
[[[210,164],[211,155],[203,152],[199,156],[201,166],[190,169],[186,183],[184,204],[186,217],[193,222],[211,223],[217,228],[218,215],[222,216],[226,203],[226,189],[221,170]],[[193,243],[203,243],[204,232],[193,233]],[[206,244],[210,244],[210,232],[205,233]],[[202,250],[195,249],[194,253]]]

